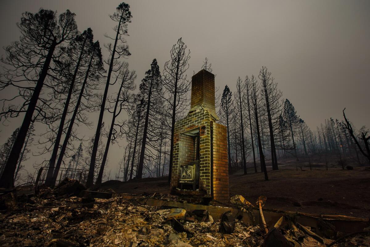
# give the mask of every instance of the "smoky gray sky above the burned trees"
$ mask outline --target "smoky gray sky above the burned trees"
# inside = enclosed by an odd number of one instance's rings
[[[24,11],[70,9],[80,31],[91,27],[95,40],[110,42],[115,25],[109,18],[120,1],[0,2],[0,46],[19,39],[16,23]],[[127,1],[132,23],[127,41],[130,68],[137,85],[153,58],[159,66],[179,37],[191,50],[188,77],[198,72],[205,57],[212,63],[216,86],[235,90],[238,76],[258,75],[267,66],[279,82],[283,97],[312,130],[326,118],[347,116],[357,127],[368,125],[370,72],[370,1]],[[103,50],[104,58],[107,52]],[[3,51],[0,52],[4,54]],[[1,92],[0,92],[1,94]],[[3,98],[3,97],[1,97]],[[108,122],[110,115],[105,115]],[[91,115],[97,122],[97,115]],[[1,144],[14,125],[0,125]],[[84,133],[90,136],[94,130]],[[124,143],[122,143],[124,144]],[[110,149],[110,167],[121,158]],[[113,171],[112,170],[112,171]]]

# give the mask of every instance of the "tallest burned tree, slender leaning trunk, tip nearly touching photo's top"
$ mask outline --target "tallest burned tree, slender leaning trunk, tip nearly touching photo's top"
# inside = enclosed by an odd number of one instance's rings
[[[90,168],[86,182],[87,187],[91,187],[94,183],[95,160],[98,152],[103,115],[105,111],[105,103],[107,101],[108,88],[110,85],[112,72],[117,72],[120,70],[122,66],[122,64],[120,64],[120,62],[118,61],[120,57],[128,57],[129,55],[131,55],[128,51],[128,45],[126,44],[126,40],[123,38],[124,35],[127,35],[127,23],[131,22],[132,16],[129,8],[130,6],[127,3],[121,3],[120,5],[118,5],[116,9],[117,11],[112,16],[110,16],[111,19],[113,21],[118,22],[118,24],[114,28],[114,30],[116,31],[115,38],[113,39],[114,45],[112,46],[112,44],[108,44],[106,46],[111,53],[110,60],[108,60],[109,69],[107,75],[107,82],[105,83],[104,94],[101,100],[100,114],[95,133],[94,145],[91,151]],[[120,42],[120,44],[118,44],[118,42]]]

